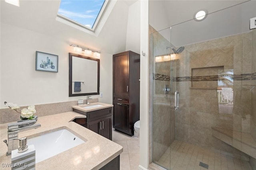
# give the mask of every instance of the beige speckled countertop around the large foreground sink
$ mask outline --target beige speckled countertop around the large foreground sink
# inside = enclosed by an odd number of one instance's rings
[[[94,103],[95,104],[95,103]],[[100,169],[108,162],[116,158],[122,153],[122,146],[94,133],[93,131],[74,123],[72,120],[76,117],[85,117],[82,114],[74,111],[59,113],[38,117],[37,123],[41,127],[20,132],[19,138],[32,138],[37,133],[45,133],[46,131],[54,131],[54,129],[68,129],[74,132],[75,135],[86,141],[72,149],[66,150],[60,154],[52,156],[42,162],[36,164],[36,170],[41,169],[75,169],[75,170],[90,170]],[[0,124],[0,161],[1,169],[11,169],[3,167],[3,164],[11,163],[11,156],[6,156],[7,146],[4,142],[7,139],[8,123]],[[18,142],[18,141],[17,141]]]

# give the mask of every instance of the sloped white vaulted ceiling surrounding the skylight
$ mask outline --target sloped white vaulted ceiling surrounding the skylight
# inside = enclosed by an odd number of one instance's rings
[[[135,1],[112,1],[108,16],[95,33],[88,33],[56,20],[60,0],[20,0],[20,6],[0,1],[1,23],[29,29],[68,43],[114,54],[124,51],[128,9]]]

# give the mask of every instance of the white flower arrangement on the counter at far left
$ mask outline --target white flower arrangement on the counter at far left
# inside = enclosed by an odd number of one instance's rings
[[[20,107],[17,106],[17,104],[13,104],[13,103],[7,103],[7,102],[4,102],[4,104],[6,106],[8,106],[9,108],[15,110],[16,112],[17,109],[19,109]],[[18,112],[20,113],[20,112]],[[28,108],[24,108],[21,110],[21,113],[20,113],[20,119],[22,120],[26,120],[26,119],[33,119],[34,118],[34,113],[36,113],[36,109],[35,109],[35,106],[32,105],[32,106],[28,106]]]

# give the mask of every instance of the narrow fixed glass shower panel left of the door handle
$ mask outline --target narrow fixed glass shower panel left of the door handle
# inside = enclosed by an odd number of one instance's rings
[[[170,29],[152,34],[153,44],[153,117],[152,121],[152,160],[158,162],[174,141],[174,112],[171,113],[172,88],[170,60]],[[171,123],[172,122],[172,123]],[[169,149],[170,150],[170,149]]]

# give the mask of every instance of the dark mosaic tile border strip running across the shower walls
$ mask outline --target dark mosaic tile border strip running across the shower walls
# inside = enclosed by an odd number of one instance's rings
[[[230,75],[229,75],[230,76]],[[234,74],[230,76],[231,80],[256,80],[256,72],[252,74]],[[153,73],[153,80],[164,80],[170,81],[170,76],[163,75],[163,74],[155,74]],[[218,81],[224,80],[222,75],[219,76],[185,76],[185,77],[173,77],[172,80],[174,82],[186,82],[186,81]]]

